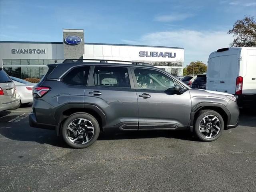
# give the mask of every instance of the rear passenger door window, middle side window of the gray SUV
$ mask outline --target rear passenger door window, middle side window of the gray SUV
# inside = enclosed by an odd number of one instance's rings
[[[126,67],[95,66],[94,86],[131,88]]]

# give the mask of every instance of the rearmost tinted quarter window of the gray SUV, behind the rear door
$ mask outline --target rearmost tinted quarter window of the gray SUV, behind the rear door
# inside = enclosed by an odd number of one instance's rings
[[[70,85],[87,85],[90,66],[77,67],[64,76],[62,81]]]

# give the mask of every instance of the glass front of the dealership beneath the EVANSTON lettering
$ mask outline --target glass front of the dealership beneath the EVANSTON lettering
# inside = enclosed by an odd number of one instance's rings
[[[63,60],[47,59],[3,59],[2,67],[9,76],[17,78],[42,78],[48,71],[47,64],[61,63]]]

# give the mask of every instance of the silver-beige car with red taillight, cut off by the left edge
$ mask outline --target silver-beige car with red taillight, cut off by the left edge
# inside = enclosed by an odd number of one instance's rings
[[[20,106],[20,98],[15,91],[15,84],[0,68],[0,111],[15,109]]]

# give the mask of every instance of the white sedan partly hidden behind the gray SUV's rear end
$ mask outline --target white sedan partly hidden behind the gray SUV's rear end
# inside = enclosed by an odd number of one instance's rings
[[[31,83],[23,79],[10,76],[16,86],[16,93],[20,96],[20,104],[27,105],[33,102],[33,87],[36,83]]]

